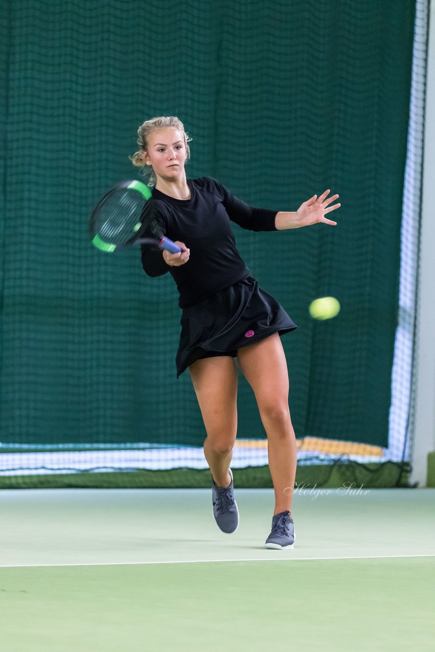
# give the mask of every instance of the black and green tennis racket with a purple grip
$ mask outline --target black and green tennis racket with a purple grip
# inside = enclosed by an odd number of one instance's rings
[[[132,244],[155,244],[172,254],[181,247],[159,233],[151,190],[142,181],[122,181],[98,201],[89,220],[91,242],[100,251],[113,252]],[[154,237],[140,237],[144,231]]]

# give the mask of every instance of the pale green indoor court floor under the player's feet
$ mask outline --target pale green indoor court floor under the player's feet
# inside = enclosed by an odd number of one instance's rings
[[[435,490],[323,492],[277,551],[271,490],[233,535],[208,490],[4,490],[1,652],[434,651]]]

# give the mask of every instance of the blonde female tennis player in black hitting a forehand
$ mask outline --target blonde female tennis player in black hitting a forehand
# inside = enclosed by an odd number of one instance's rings
[[[295,541],[292,494],[296,441],[288,406],[288,370],[280,336],[297,325],[284,308],[258,286],[235,246],[230,221],[251,231],[282,231],[322,222],[340,207],[329,190],[312,196],[297,211],[259,209],[233,196],[216,179],[187,179],[187,133],[177,117],[156,117],[138,129],[140,150],[132,163],[153,185],[153,231],[181,247],[170,254],[142,246],[149,276],[170,272],[179,290],[181,336],[177,378],[187,368],[202,412],[207,437],[205,459],[212,474],[213,513],[226,533],[239,525],[230,469],[237,432],[237,372],[250,383],[267,433],[275,511],[266,548],[292,548]]]

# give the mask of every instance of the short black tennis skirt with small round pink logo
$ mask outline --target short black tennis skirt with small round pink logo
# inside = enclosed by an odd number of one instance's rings
[[[273,333],[294,331],[297,325],[252,276],[183,308],[177,378],[196,360],[230,355]]]

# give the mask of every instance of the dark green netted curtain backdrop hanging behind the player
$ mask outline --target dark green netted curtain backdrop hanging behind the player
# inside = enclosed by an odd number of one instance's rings
[[[138,177],[138,126],[178,115],[192,178],[277,210],[340,194],[337,227],[234,231],[299,326],[282,340],[297,437],[387,447],[415,3],[3,4],[3,446],[202,445],[172,278],[87,236],[99,196]],[[325,295],[341,312],[313,321]],[[263,439],[243,379],[239,413]]]

